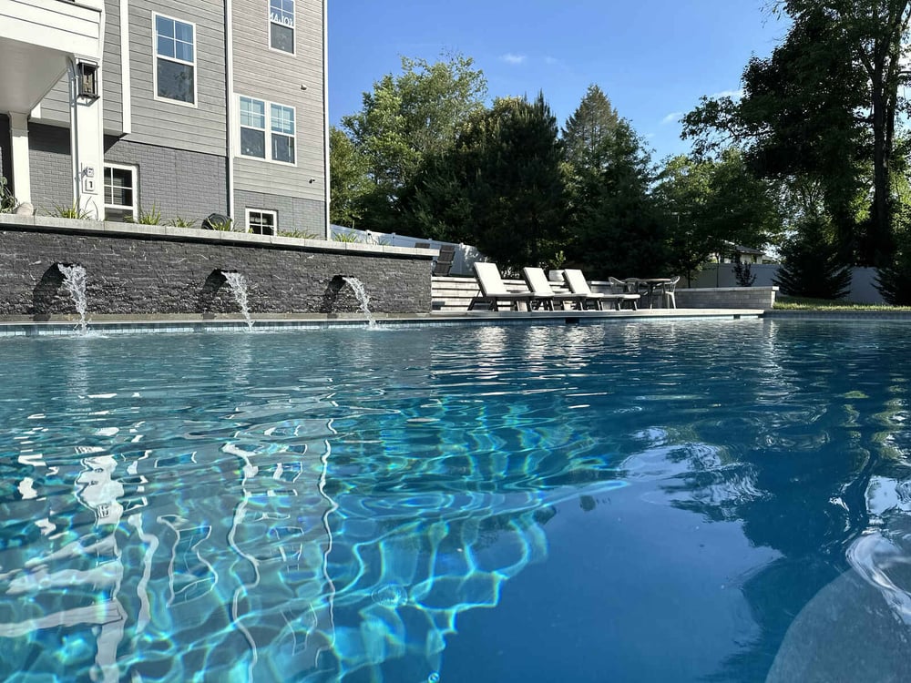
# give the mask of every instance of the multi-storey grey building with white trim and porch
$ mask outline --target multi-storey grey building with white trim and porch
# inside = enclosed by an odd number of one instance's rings
[[[0,173],[39,213],[326,236],[326,0],[0,0]]]

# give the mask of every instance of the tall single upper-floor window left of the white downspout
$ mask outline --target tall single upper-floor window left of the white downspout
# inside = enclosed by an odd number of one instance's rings
[[[155,15],[155,95],[196,104],[196,28]]]

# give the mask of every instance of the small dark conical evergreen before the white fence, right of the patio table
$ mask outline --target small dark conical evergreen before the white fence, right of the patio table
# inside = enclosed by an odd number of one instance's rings
[[[823,218],[804,219],[800,231],[782,247],[782,264],[773,280],[783,294],[814,299],[842,299],[851,289],[831,225]]]

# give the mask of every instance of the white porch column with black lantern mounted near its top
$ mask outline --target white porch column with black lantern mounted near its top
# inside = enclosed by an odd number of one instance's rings
[[[87,218],[104,219],[104,119],[101,97],[79,97],[76,60],[69,63],[70,145],[73,155],[73,197]],[[97,91],[101,92],[101,69]]]

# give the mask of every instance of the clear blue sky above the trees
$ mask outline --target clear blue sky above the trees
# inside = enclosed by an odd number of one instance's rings
[[[702,95],[737,91],[750,56],[785,25],[766,0],[331,0],[329,112],[359,111],[401,56],[475,59],[488,96],[537,96],[560,127],[597,84],[654,150],[687,152],[678,119]]]

